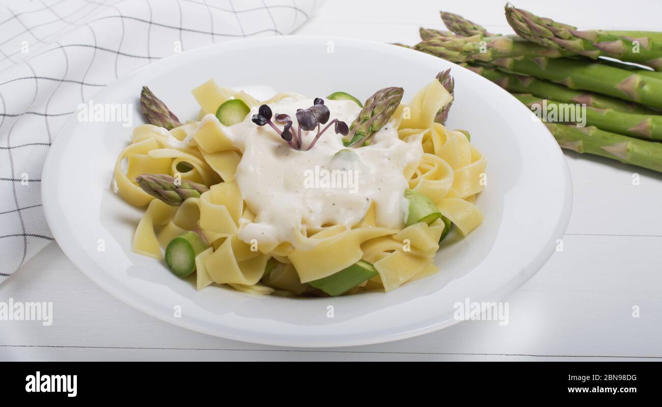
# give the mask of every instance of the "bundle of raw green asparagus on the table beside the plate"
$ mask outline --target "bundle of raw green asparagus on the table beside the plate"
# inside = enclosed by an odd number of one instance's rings
[[[585,106],[586,127],[545,122],[562,148],[662,172],[662,32],[578,30],[512,5],[505,11],[517,35],[442,12],[450,32],[420,28],[410,48],[479,73],[534,111]]]

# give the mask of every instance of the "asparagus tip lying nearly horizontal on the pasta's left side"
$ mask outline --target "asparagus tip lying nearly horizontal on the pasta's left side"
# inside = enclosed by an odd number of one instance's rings
[[[177,180],[167,174],[138,175],[136,183],[152,197],[172,206],[179,206],[189,198],[199,198],[202,193],[209,191],[205,185]]]

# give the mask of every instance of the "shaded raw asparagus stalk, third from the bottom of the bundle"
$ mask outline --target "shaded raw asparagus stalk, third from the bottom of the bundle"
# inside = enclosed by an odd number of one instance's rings
[[[558,83],[544,81],[532,76],[505,73],[484,66],[465,66],[465,68],[486,77],[510,93],[530,93],[543,99],[552,99],[565,103],[581,103],[595,107],[596,109],[614,109],[614,111],[624,113],[653,113],[653,111],[636,103],[600,95],[600,93],[577,91],[559,85]]]

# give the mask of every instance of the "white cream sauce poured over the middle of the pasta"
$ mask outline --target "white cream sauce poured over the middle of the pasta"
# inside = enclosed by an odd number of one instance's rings
[[[312,99],[289,97],[269,107],[274,116],[289,114],[296,125],[297,109],[312,104]],[[330,111],[329,121],[338,118],[348,126],[361,110],[352,101],[324,99],[324,104]],[[422,158],[420,140],[400,140],[393,121],[375,134],[369,146],[344,147],[342,135],[331,126],[308,151],[316,130],[302,132],[303,148],[295,150],[268,124],[260,127],[251,122],[257,110],[252,109],[244,122],[224,128],[243,154],[236,181],[248,208],[256,214],[255,222],[240,225],[240,240],[256,240],[262,247],[290,242],[295,248],[310,249],[314,242],[300,238],[303,230],[329,224],[351,228],[361,222],[371,203],[375,203],[377,226],[402,228],[407,211],[403,195],[408,187],[403,171]],[[203,120],[216,118],[208,114]],[[350,151],[336,155],[344,149]],[[331,181],[334,177],[336,182]]]

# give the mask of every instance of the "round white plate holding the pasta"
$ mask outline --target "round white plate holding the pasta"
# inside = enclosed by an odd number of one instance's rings
[[[148,85],[179,118],[194,118],[193,87],[267,86],[324,97],[348,91],[365,99],[387,86],[408,101],[442,69],[452,68],[455,103],[448,126],[471,132],[487,157],[487,187],[477,205],[485,222],[463,240],[444,241],[433,277],[391,293],[340,298],[252,296],[223,287],[196,291],[164,263],[132,253],[142,210],[109,189],[113,164],[131,128],[71,118],[44,165],[48,224],[71,261],[103,289],[172,324],[255,343],[329,347],[409,338],[457,322],[465,298],[504,298],[538,271],[569,220],[572,189],[561,150],[544,125],[506,91],[479,75],[398,46],[343,38],[281,36],[227,42],[177,54],[138,69],[94,97],[132,103]],[[101,243],[105,250],[100,251]],[[330,318],[330,306],[333,318]],[[181,307],[181,317],[175,308]],[[177,308],[179,309],[179,308]]]

